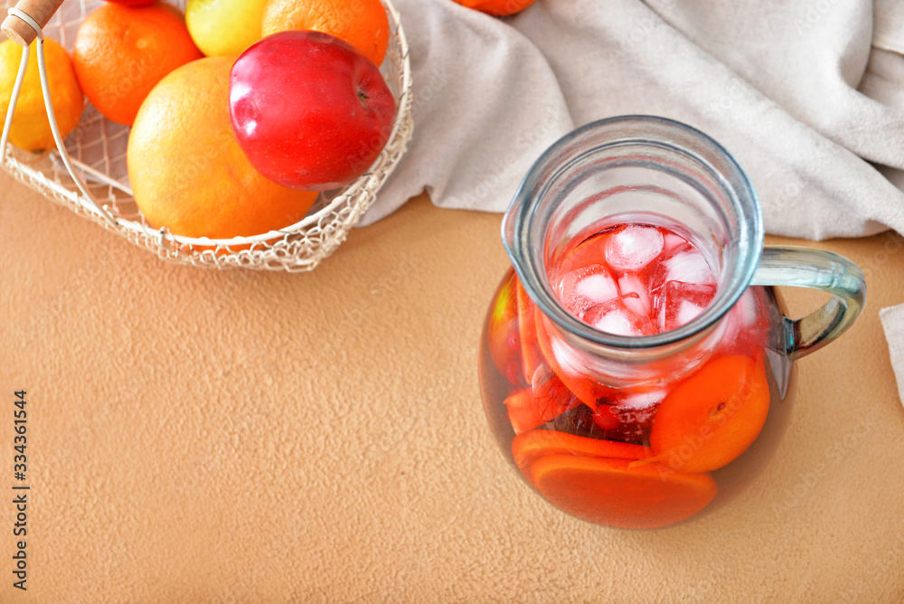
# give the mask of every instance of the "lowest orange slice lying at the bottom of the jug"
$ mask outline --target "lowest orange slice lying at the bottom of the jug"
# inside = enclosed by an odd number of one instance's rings
[[[629,459],[549,455],[531,477],[552,505],[617,528],[657,528],[690,518],[710,504],[718,487],[709,474],[675,472],[659,464],[632,467]]]

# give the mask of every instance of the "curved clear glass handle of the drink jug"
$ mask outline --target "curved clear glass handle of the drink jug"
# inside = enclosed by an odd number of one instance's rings
[[[842,335],[866,304],[862,270],[843,256],[813,248],[767,245],[750,285],[815,288],[832,294],[831,300],[803,318],[785,317],[786,354],[792,359]]]

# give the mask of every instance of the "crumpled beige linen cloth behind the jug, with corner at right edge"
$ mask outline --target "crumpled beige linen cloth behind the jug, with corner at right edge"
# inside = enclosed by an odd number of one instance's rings
[[[770,233],[904,233],[901,0],[538,0],[507,19],[394,1],[415,135],[365,224],[425,189],[441,207],[503,212],[557,138],[642,113],[726,146]],[[904,389],[904,306],[882,319]]]

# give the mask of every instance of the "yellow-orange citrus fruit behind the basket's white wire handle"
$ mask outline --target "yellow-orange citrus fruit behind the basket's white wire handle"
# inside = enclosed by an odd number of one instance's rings
[[[10,40],[0,43],[0,119],[6,118],[21,61],[22,46]],[[44,40],[44,61],[47,66],[53,113],[60,134],[65,138],[78,125],[81,111],[85,108],[85,99],[72,69],[69,53],[50,38]],[[0,128],[3,127],[2,124],[0,121]],[[41,151],[56,146],[50,120],[44,109],[41,80],[38,75],[38,52],[34,44],[28,55],[28,67],[15,106],[9,141],[25,151]]]

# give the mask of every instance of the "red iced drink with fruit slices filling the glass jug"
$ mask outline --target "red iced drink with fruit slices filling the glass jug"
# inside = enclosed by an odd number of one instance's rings
[[[558,258],[547,277],[561,306],[607,334],[676,329],[717,293],[710,260],[677,227],[617,224],[581,235]],[[609,381],[579,366],[510,270],[485,325],[487,416],[523,476],[561,509],[623,528],[680,522],[738,472],[749,476],[749,449],[777,440],[764,432],[778,306],[770,288],[748,288],[691,373]]]

